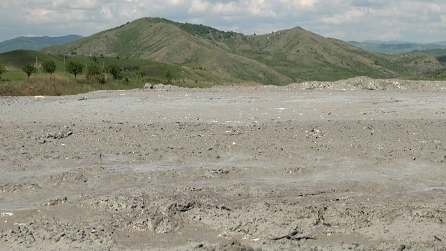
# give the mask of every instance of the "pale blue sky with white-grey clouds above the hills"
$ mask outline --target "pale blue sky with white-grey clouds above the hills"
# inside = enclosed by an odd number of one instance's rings
[[[250,35],[300,26],[341,40],[446,40],[445,0],[1,0],[0,41],[90,36],[140,17]]]

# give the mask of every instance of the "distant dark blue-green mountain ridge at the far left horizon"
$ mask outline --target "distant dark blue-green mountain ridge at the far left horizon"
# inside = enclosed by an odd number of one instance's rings
[[[82,38],[79,35],[68,35],[60,37],[19,37],[0,42],[0,53],[13,50],[40,50],[51,45],[61,45],[72,40]]]

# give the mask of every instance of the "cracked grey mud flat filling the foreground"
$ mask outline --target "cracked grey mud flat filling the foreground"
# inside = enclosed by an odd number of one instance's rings
[[[1,97],[0,250],[445,250],[445,86]]]

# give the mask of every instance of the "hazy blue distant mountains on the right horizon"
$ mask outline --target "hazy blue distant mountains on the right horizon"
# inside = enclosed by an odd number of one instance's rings
[[[414,50],[425,51],[433,49],[444,49],[445,45],[436,43],[410,43],[405,41],[391,40],[368,40],[364,42],[348,41],[349,44],[370,52],[379,52],[384,54],[399,54],[411,52]],[[439,42],[441,43],[441,42]]]

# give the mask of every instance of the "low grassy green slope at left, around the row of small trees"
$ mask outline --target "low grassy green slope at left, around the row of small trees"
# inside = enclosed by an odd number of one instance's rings
[[[36,66],[38,73],[27,78],[22,70],[26,64]],[[54,61],[56,73],[43,73],[43,61]],[[66,73],[66,63],[77,61],[84,65],[82,74],[75,79]],[[121,69],[118,79],[107,72],[107,66],[116,64]],[[174,84],[184,87],[210,87],[215,84],[252,84],[231,77],[224,77],[199,68],[173,63],[160,63],[148,59],[121,59],[116,57],[62,56],[31,50],[17,50],[0,54],[0,65],[6,73],[0,78],[0,96],[59,96],[96,90],[142,88],[146,82]],[[99,66],[104,78],[89,79],[87,67]],[[167,77],[169,73],[170,77]]]

